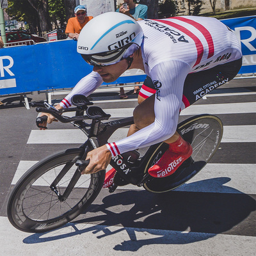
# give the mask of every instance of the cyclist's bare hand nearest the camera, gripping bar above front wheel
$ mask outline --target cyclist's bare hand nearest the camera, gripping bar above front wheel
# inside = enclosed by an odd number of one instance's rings
[[[90,160],[88,166],[81,172],[82,174],[96,173],[105,170],[111,161],[111,152],[104,145],[88,152],[86,160]]]

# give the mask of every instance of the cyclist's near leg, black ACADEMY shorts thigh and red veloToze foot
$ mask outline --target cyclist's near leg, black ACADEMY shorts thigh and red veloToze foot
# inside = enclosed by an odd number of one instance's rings
[[[218,65],[209,70],[189,74],[184,83],[183,108],[193,104],[197,99],[211,92],[214,88],[233,79],[240,68],[241,59],[224,65]],[[166,150],[163,157],[148,169],[148,173],[153,177],[171,175],[191,156],[193,152],[191,145],[180,136],[178,136],[176,141],[174,139],[176,138],[172,136],[169,140],[164,141],[169,144],[169,150]]]

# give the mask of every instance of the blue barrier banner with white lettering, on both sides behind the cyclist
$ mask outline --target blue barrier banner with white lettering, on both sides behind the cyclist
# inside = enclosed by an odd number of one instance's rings
[[[245,63],[239,74],[256,72],[255,17],[221,20],[241,38]],[[91,71],[74,40],[0,49],[0,95],[72,88]],[[144,79],[145,74],[121,76],[115,84]]]

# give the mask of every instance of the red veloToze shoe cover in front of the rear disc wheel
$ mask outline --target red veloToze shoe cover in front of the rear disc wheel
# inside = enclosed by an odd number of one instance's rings
[[[148,169],[148,173],[155,178],[170,176],[191,156],[192,152],[191,145],[180,136],[177,141],[169,144],[169,149]]]

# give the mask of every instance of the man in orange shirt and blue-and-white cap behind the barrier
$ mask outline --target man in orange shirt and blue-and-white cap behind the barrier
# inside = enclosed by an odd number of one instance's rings
[[[87,8],[84,5],[77,5],[75,8],[75,16],[68,19],[68,24],[65,33],[68,33],[68,37],[78,39],[84,25],[91,20],[92,16],[87,16]]]

